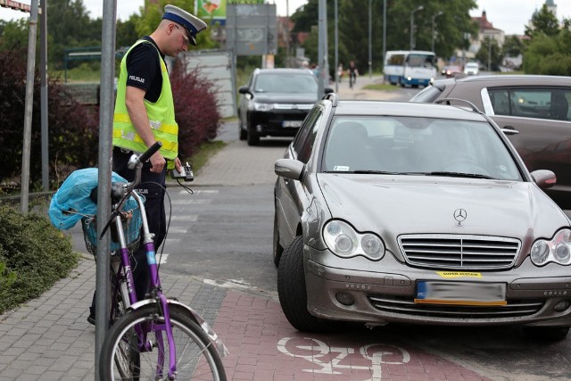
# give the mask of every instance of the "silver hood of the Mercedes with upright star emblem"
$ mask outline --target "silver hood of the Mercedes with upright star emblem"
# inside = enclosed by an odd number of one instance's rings
[[[319,174],[333,218],[359,231],[550,237],[567,216],[532,183]],[[454,218],[466,211],[466,219]]]

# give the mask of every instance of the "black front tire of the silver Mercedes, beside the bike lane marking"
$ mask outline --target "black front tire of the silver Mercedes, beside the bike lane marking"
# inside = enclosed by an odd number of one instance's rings
[[[285,318],[301,332],[332,332],[343,322],[319,319],[307,311],[307,291],[303,270],[303,237],[296,236],[285,247],[277,268],[277,295]]]

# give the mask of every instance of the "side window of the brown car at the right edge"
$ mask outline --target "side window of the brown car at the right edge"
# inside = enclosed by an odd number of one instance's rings
[[[571,90],[559,88],[488,89],[496,115],[524,118],[571,120]]]

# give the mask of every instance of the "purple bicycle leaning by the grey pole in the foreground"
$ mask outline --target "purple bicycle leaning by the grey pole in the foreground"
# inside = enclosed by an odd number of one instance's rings
[[[220,360],[228,353],[224,344],[198,313],[162,294],[145,203],[135,192],[141,180],[143,163],[160,148],[159,142],[140,156],[134,154],[128,167],[136,171],[135,179],[112,186],[112,216],[103,234],[107,228],[112,229],[112,236],[119,242],[119,250],[114,256],[119,259],[112,260],[113,319],[101,349],[100,376],[103,380],[224,381],[226,374]],[[143,301],[137,301],[129,261],[129,245],[132,243],[129,242],[128,226],[133,225],[130,220],[137,218],[135,214],[126,215],[123,211],[130,197],[135,199],[140,211],[140,244],[145,245],[152,279],[150,297]],[[124,310],[124,313],[113,311],[114,308]]]

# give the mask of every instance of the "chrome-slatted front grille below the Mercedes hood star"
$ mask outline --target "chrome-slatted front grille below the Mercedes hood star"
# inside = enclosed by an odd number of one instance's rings
[[[431,269],[509,269],[520,241],[501,236],[417,234],[399,237],[410,266]]]

